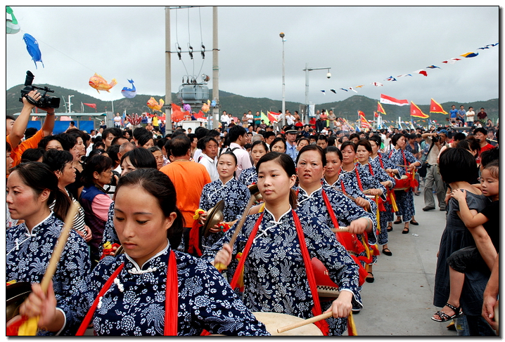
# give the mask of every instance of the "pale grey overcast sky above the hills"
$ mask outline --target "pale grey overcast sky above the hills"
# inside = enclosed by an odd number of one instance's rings
[[[101,100],[122,98],[133,79],[139,94],[165,94],[165,8],[12,6],[21,31],[6,34],[6,88],[34,84],[75,89]],[[172,55],[172,92],[186,74],[212,77],[212,7],[171,10],[171,51],[179,43],[187,51],[205,45],[190,60]],[[286,34],[286,100],[305,102],[305,63],[331,67],[309,72],[309,101],[328,103],[356,95],[340,88],[356,87],[359,95],[381,93],[426,105],[430,98],[472,102],[499,96],[497,6],[447,7],[219,7],[219,89],[241,96],[282,99],[282,40]],[[188,24],[189,22],[189,24]],[[39,42],[41,63],[35,68],[23,34]],[[462,58],[454,65],[442,63]],[[442,69],[427,69],[437,65]],[[426,70],[428,77],[414,74]],[[200,71],[201,70],[201,71]],[[110,93],[97,93],[89,77],[117,79]],[[400,74],[397,81],[386,78]],[[200,77],[198,77],[200,81]],[[384,86],[376,87],[371,82]],[[212,88],[212,79],[208,84]],[[337,93],[329,91],[330,88]],[[326,95],[321,92],[326,91]],[[159,100],[159,98],[156,98]],[[446,108],[446,110],[448,110]]]

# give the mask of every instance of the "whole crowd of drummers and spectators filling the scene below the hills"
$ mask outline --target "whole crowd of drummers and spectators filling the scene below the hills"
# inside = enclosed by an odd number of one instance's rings
[[[7,117],[6,280],[32,283],[20,315],[39,317],[41,335],[82,334],[91,323],[106,336],[260,336],[269,331],[255,312],[328,312],[315,324],[340,336],[378,256],[393,255],[393,224],[404,234],[418,225],[421,182],[423,210],[435,209],[435,191],[447,211],[435,276],[442,309],[432,319],[463,313],[472,335],[496,328],[498,133],[492,144],[485,128],[348,133],[333,112],[331,126],[312,128],[288,111],[276,129],[259,112],[235,124],[223,111],[222,127],[194,133],[160,136],[116,120],[53,135],[53,110],[41,108],[44,124],[30,132],[34,106],[23,104]],[[65,262],[43,291],[72,202]]]

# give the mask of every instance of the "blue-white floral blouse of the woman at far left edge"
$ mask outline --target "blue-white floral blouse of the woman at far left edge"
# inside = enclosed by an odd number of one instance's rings
[[[6,281],[41,282],[49,259],[63,230],[63,222],[53,212],[28,231],[25,223],[6,231]],[[91,269],[88,246],[75,231],[70,230],[67,244],[53,275],[53,289],[57,301],[64,301],[77,282],[87,277]],[[63,308],[70,310],[70,308]],[[54,335],[39,330],[39,335]],[[62,331],[61,334],[68,334]]]

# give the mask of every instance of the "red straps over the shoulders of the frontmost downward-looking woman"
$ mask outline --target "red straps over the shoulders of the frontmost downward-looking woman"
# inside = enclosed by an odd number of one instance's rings
[[[89,311],[84,317],[79,330],[77,330],[77,334],[75,336],[83,336],[87,327],[89,326],[89,322],[93,318],[95,314],[96,307],[98,303],[101,301],[101,298],[104,294],[110,289],[112,286],[114,279],[119,275],[122,268],[124,267],[124,263],[114,271],[113,275],[107,279],[106,284],[103,285],[100,292],[98,292],[98,296],[96,296],[93,305],[89,308]],[[165,336],[177,336],[177,313],[179,311],[179,284],[177,278],[177,262],[175,260],[174,251],[170,251],[170,257],[168,258],[168,269],[167,269],[167,282],[165,284],[165,328],[164,335]]]

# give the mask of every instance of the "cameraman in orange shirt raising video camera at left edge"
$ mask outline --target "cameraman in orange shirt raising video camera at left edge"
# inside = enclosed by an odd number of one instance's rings
[[[27,93],[27,96],[33,98],[35,101],[38,101],[41,98],[41,94],[37,90],[32,90]],[[37,133],[35,133],[32,137],[26,139],[21,142],[23,136],[25,134],[26,126],[28,125],[28,121],[30,120],[30,113],[33,108],[36,107],[32,105],[25,96],[23,96],[23,110],[21,110],[18,119],[15,119],[14,124],[12,125],[12,129],[7,130],[7,143],[11,144],[11,158],[13,159],[12,166],[16,166],[21,162],[21,155],[25,150],[29,148],[37,148],[40,140],[44,138],[44,136],[51,136],[54,128],[54,108],[40,108],[41,110],[45,110],[47,112],[46,119],[44,120],[44,124]],[[11,126],[11,121],[13,121],[13,117],[7,117],[7,127]],[[10,122],[9,122],[10,121]]]

